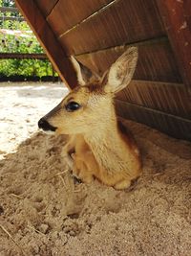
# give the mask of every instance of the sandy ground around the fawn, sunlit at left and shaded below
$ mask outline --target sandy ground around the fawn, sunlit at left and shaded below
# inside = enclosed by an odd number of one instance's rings
[[[65,173],[63,136],[38,119],[61,84],[0,84],[0,256],[191,255],[191,144],[126,122],[142,153],[132,191]]]

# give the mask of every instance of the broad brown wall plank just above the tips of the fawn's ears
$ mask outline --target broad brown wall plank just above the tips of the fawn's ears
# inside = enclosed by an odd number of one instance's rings
[[[59,40],[69,55],[79,55],[165,35],[155,1],[115,1]]]

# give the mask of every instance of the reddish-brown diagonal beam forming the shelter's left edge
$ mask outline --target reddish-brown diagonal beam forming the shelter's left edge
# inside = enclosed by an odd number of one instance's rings
[[[53,31],[35,2],[16,0],[16,4],[27,19],[33,33],[45,49],[47,56],[52,61],[53,67],[60,78],[65,81],[65,84],[69,87],[74,87],[76,85],[74,67],[71,61],[66,58],[64,50],[56,40]]]

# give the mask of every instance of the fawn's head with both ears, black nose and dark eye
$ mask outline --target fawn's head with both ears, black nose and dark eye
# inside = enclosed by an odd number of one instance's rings
[[[91,133],[116,119],[114,97],[132,80],[138,49],[129,48],[100,79],[91,70],[71,58],[78,86],[59,105],[41,118],[38,127],[58,134]]]

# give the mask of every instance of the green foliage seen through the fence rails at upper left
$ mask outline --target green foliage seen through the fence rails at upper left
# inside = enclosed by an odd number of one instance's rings
[[[15,7],[14,1],[0,0],[0,7]],[[6,16],[17,20],[5,20]],[[27,22],[19,21],[19,12],[0,12],[0,29],[31,31]],[[0,32],[1,53],[43,53],[42,47],[33,34],[29,37],[5,35]],[[53,67],[48,59],[0,59],[2,76],[53,76]]]

